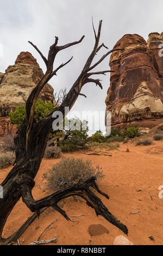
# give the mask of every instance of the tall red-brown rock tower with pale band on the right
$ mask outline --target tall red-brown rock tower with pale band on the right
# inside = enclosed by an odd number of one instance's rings
[[[110,87],[105,100],[111,125],[155,126],[163,122],[163,33],[146,42],[137,34],[124,35],[114,46],[124,49],[110,57]]]

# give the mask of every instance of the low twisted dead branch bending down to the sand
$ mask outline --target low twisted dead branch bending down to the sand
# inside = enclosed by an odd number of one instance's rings
[[[120,221],[116,219],[105,207],[102,203],[101,199],[99,199],[89,187],[94,188],[98,193],[102,194],[104,197],[109,199],[108,195],[99,190],[99,187],[96,184],[96,177],[92,176],[90,179],[87,179],[85,182],[68,187],[65,190],[61,190],[51,194],[48,197],[42,198],[40,200],[34,200],[32,196],[32,189],[29,185],[22,184],[21,185],[21,193],[22,200],[27,205],[27,207],[35,212],[40,211],[42,208],[51,206],[56,211],[60,212],[62,216],[66,218],[67,221],[71,219],[67,216],[66,212],[62,210],[57,203],[70,196],[80,196],[84,198],[87,202],[87,205],[91,206],[96,211],[96,215],[103,216],[110,223],[114,224],[116,227],[120,228],[125,234],[128,234],[128,229],[125,225],[123,225]]]

